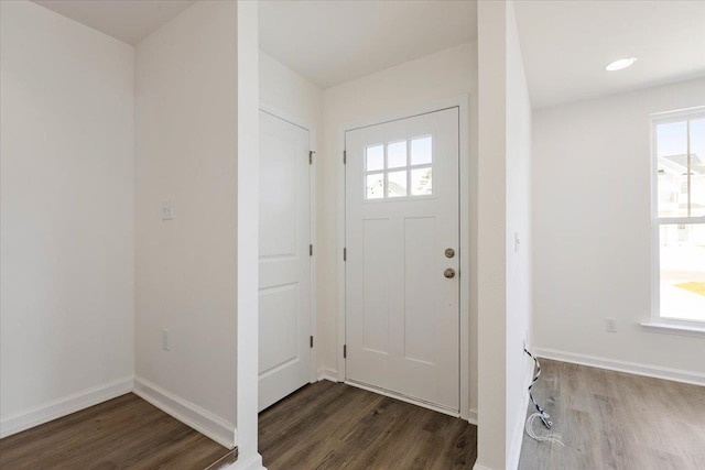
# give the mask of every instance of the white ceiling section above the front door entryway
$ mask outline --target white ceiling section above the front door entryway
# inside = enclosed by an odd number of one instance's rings
[[[324,88],[476,39],[474,0],[260,2],[262,51]]]

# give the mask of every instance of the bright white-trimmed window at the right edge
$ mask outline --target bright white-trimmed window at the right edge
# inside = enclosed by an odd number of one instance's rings
[[[651,118],[654,316],[705,321],[705,107]]]

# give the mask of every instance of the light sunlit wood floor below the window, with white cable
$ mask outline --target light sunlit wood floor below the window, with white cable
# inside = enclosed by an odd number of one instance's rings
[[[534,396],[565,447],[524,436],[521,470],[705,469],[705,387],[545,359],[541,367]],[[534,429],[546,433],[540,422]]]

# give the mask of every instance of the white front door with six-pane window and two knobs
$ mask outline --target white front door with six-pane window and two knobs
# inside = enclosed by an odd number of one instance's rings
[[[346,380],[459,412],[458,109],[346,132]]]

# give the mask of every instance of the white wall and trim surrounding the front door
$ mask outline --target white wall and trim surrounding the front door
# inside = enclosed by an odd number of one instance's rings
[[[329,375],[337,375],[337,359],[341,354],[337,348],[338,338],[338,168],[343,157],[341,131],[346,124],[384,118],[390,114],[432,105],[440,100],[470,95],[470,233],[468,233],[470,252],[476,253],[475,232],[477,212],[475,197],[477,190],[477,48],[476,44],[455,46],[416,61],[349,81],[324,90],[324,138],[318,152],[318,222],[316,229],[319,245],[317,259],[318,315],[321,324],[319,337],[325,341],[322,367]],[[471,267],[468,280],[475,278],[471,255]],[[477,298],[470,292],[470,408],[475,408],[476,400],[476,363],[475,345],[477,328]]]

